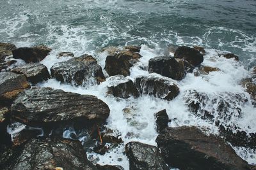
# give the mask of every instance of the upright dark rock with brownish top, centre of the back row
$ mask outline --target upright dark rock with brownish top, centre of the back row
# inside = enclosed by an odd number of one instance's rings
[[[109,76],[122,74],[130,75],[130,67],[132,67],[141,58],[140,53],[131,52],[129,50],[114,50],[109,53],[105,61],[105,68]]]

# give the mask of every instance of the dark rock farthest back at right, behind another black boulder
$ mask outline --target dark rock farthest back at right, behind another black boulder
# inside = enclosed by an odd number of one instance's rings
[[[182,59],[186,70],[189,72],[204,61],[203,55],[198,50],[187,46],[179,46],[174,53],[174,57]]]

